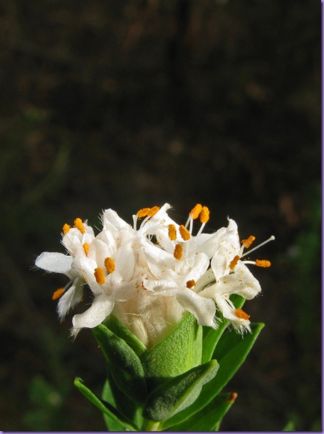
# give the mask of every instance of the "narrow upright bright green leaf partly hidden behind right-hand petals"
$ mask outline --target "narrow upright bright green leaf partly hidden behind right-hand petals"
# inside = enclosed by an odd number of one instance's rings
[[[236,309],[240,309],[244,305],[244,297],[233,294],[231,295],[231,301],[234,303]],[[203,340],[202,340],[202,363],[207,363],[213,357],[214,349],[217,345],[221,335],[229,325],[227,319],[222,318],[218,329],[212,329],[211,327],[203,327]]]

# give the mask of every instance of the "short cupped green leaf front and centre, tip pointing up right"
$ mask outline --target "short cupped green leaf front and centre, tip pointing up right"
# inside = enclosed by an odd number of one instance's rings
[[[202,386],[211,381],[219,368],[216,360],[196,366],[157,387],[147,398],[145,418],[165,420],[196,401]]]

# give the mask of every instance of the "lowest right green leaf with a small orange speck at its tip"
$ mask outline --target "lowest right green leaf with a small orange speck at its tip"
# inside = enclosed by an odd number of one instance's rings
[[[234,403],[235,393],[219,393],[206,407],[190,418],[172,426],[172,431],[216,431],[222,418]],[[163,423],[162,423],[163,428]]]

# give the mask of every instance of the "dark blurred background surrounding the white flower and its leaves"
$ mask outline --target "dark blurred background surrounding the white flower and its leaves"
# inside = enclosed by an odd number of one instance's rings
[[[0,425],[105,430],[90,331],[35,272],[75,217],[207,205],[256,257],[266,323],[222,430],[321,430],[320,1],[4,0],[0,6]]]

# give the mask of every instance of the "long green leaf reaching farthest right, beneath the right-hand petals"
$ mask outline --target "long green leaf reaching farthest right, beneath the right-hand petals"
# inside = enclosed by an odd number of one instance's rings
[[[263,329],[264,324],[251,324],[251,333],[244,335],[236,334],[234,331],[228,332],[221,336],[218,345],[214,351],[214,358],[219,362],[219,371],[215,378],[202,388],[194,405],[172,416],[163,424],[163,428],[177,425],[183,420],[186,420],[197,411],[204,408],[229,382],[234,373],[239,369],[244,362],[246,356],[251,350],[258,334]],[[221,349],[219,349],[221,348]]]

